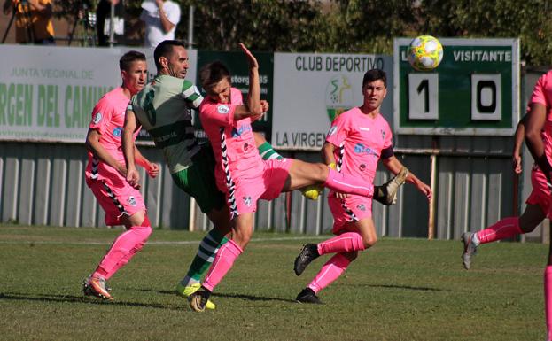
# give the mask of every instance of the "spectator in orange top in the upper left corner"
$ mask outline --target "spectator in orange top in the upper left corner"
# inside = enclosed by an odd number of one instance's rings
[[[55,44],[51,0],[5,0],[4,14],[12,11],[16,43]]]

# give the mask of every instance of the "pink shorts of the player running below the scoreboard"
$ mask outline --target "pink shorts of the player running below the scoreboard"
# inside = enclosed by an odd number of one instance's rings
[[[331,232],[338,235],[347,224],[352,221],[360,221],[372,217],[372,198],[349,195],[344,200],[334,197],[330,193],[328,205],[333,214],[333,229]]]

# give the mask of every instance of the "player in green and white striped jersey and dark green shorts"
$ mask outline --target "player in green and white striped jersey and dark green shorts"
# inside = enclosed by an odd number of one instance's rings
[[[163,151],[176,185],[195,198],[201,211],[214,223],[199,245],[198,253],[187,275],[176,291],[190,296],[200,287],[199,279],[214,260],[214,253],[226,243],[230,231],[228,207],[225,197],[215,185],[214,156],[210,145],[199,145],[191,123],[190,108],[197,108],[203,97],[190,81],[184,80],[188,69],[188,53],[183,43],[159,43],[153,56],[157,76],[143,90],[132,97],[123,128],[123,148],[127,158],[127,180],[138,184],[134,148],[131,136],[142,126],[153,137],[155,145]],[[263,159],[276,159],[279,154],[262,137],[257,138]],[[209,302],[207,308],[214,309]]]

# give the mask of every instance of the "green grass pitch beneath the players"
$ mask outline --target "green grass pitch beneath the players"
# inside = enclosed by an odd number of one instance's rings
[[[548,245],[480,248],[463,270],[455,241],[383,238],[320,295],[295,303],[327,260],[293,274],[315,236],[256,234],[216,288],[216,311],[175,296],[202,234],[156,230],[110,281],[113,303],[83,298],[121,229],[0,226],[1,340],[544,340]]]

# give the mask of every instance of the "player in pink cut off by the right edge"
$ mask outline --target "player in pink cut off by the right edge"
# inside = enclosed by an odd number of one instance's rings
[[[543,74],[535,84],[527,113],[517,124],[512,156],[517,174],[521,173],[521,146],[524,137],[535,160],[531,172],[533,190],[526,200],[525,211],[519,217],[504,218],[478,232],[465,232],[462,236],[462,260],[466,269],[470,269],[472,257],[479,244],[532,232],[545,218],[552,218],[552,71]],[[552,248],[544,271],[544,297],[547,340],[552,341]]]

